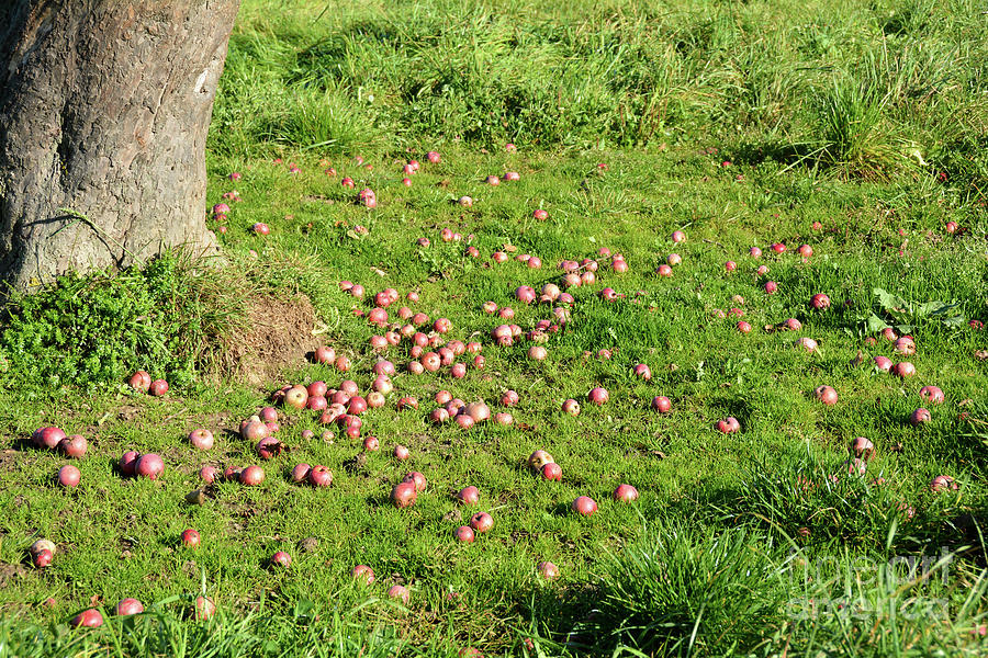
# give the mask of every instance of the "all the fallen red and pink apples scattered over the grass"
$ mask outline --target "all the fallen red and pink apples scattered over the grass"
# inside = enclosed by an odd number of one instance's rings
[[[512,145],[508,145],[512,146]],[[509,149],[510,150],[510,149]],[[429,163],[438,164],[441,158],[438,152],[429,151],[426,155]],[[280,160],[276,161],[280,163]],[[357,163],[363,166],[362,159],[358,158]],[[325,173],[328,177],[335,177],[337,171],[329,163]],[[297,173],[300,170],[294,163],[289,163],[290,173]],[[371,169],[370,164],[366,166]],[[413,184],[413,177],[419,171],[420,164],[416,160],[409,160],[402,167],[404,185]],[[600,169],[606,169],[602,163]],[[242,177],[239,173],[232,173],[231,181],[237,181]],[[514,171],[506,171],[502,175],[491,174],[485,178],[485,183],[491,186],[501,185],[502,181],[518,181],[520,175]],[[347,189],[356,189],[357,183],[352,178],[345,177],[340,180],[340,184]],[[239,202],[239,194],[231,191],[224,194],[224,202],[217,203],[212,207],[211,220],[220,225],[221,232],[225,232],[225,223],[231,214],[228,203]],[[371,188],[363,188],[357,195],[357,203],[367,208],[378,206],[378,197]],[[457,200],[463,207],[472,207],[474,200],[470,196],[460,196]],[[532,212],[532,218],[537,222],[549,220],[549,213],[542,207],[538,207]],[[815,230],[819,230],[818,225],[813,226]],[[363,229],[366,231],[366,229]],[[255,224],[252,231],[258,236],[267,236],[270,228],[262,223]],[[465,237],[468,247],[465,254],[469,258],[480,258],[480,250],[471,242],[475,236],[470,234]],[[438,231],[438,239],[441,242],[461,242],[464,237],[453,230],[445,227]],[[671,235],[673,245],[682,245],[686,241],[686,234],[683,230],[675,230]],[[416,241],[420,249],[431,247],[429,237],[419,237]],[[772,243],[766,248],[776,256],[788,252],[787,247],[782,242]],[[491,253],[493,264],[499,265],[507,263],[512,259],[512,253],[516,253],[517,249],[512,245],[504,245]],[[807,262],[812,256],[813,250],[809,245],[800,245],[796,249],[796,253]],[[749,257],[755,261],[762,258],[762,249],[751,247]],[[537,271],[542,268],[542,260],[529,253],[516,253],[515,261],[524,264],[525,271]],[[664,262],[658,264],[654,270],[659,280],[672,279],[675,274],[675,268],[683,263],[683,257],[680,253],[669,253],[662,259]],[[774,295],[778,292],[778,283],[767,280],[770,274],[768,265],[759,263],[753,271],[756,276],[761,277],[762,290],[766,295]],[[579,294],[583,288],[588,288],[600,283],[599,279],[610,275],[619,276],[630,269],[625,257],[620,253],[611,253],[608,248],[600,248],[595,258],[577,257],[573,259],[561,260],[558,264],[559,274],[552,282],[539,282],[535,285],[523,284],[514,291],[515,300],[525,306],[536,305],[536,308],[547,308],[546,316],[534,321],[534,327],[529,331],[525,331],[519,325],[512,324],[515,319],[515,310],[510,306],[498,306],[496,302],[485,302],[481,310],[484,315],[496,318],[498,324],[489,330],[478,331],[481,336],[487,336],[487,340],[492,348],[509,348],[517,342],[526,341],[529,343],[526,355],[529,360],[539,363],[549,358],[547,348],[553,337],[558,337],[560,332],[566,329],[571,321],[574,305],[577,303],[574,294]],[[737,261],[729,260],[723,264],[723,273],[726,276],[733,276],[740,269]],[[599,279],[598,279],[599,277]],[[616,280],[617,281],[617,280]],[[615,284],[617,285],[617,284]],[[537,290],[538,288],[538,290]],[[480,340],[458,340],[450,339],[453,331],[453,324],[445,317],[437,319],[430,318],[423,311],[416,311],[412,308],[419,303],[419,295],[415,291],[411,291],[402,297],[395,288],[388,287],[375,293],[370,297],[369,305],[366,304],[368,291],[363,285],[350,281],[341,281],[339,290],[352,297],[353,307],[352,316],[355,319],[366,322],[375,331],[368,341],[368,351],[377,355],[377,360],[371,366],[373,381],[367,390],[361,392],[358,384],[350,378],[340,379],[335,387],[330,387],[326,382],[315,381],[306,385],[289,384],[271,395],[271,404],[261,408],[256,415],[245,419],[239,428],[239,436],[252,446],[258,461],[266,462],[274,460],[282,455],[288,446],[278,439],[281,431],[280,416],[277,406],[282,406],[289,413],[311,412],[313,417],[317,417],[318,422],[323,426],[333,426],[340,435],[345,435],[350,440],[362,440],[362,449],[366,452],[375,452],[380,450],[381,442],[377,436],[364,435],[363,415],[370,409],[380,409],[388,405],[388,397],[395,393],[395,384],[392,377],[398,371],[398,366],[391,360],[384,358],[385,352],[393,352],[404,349],[404,365],[402,370],[412,375],[439,375],[448,373],[454,379],[463,379],[471,371],[481,371],[485,367],[485,356],[483,355],[484,344]],[[620,293],[614,287],[603,287],[596,293],[599,299],[607,303],[622,303],[631,300],[638,303],[637,299],[645,293],[639,291],[638,294]],[[403,305],[395,307],[400,302]],[[745,314],[741,308],[744,299],[739,295],[734,295],[732,303],[737,306],[729,311],[722,309],[714,309],[712,317],[715,319],[737,318],[736,328],[742,333],[751,333],[753,328],[746,320],[740,319]],[[539,306],[541,305],[541,306]],[[369,306],[369,307],[368,307]],[[810,314],[828,313],[831,308],[831,298],[827,293],[813,294],[808,304]],[[734,321],[733,319],[731,321]],[[972,322],[975,322],[973,320]],[[972,325],[975,326],[974,324]],[[796,318],[788,318],[782,322],[765,327],[766,331],[800,331],[804,325]],[[471,337],[473,334],[470,334]],[[882,333],[883,338],[894,343],[896,354],[909,356],[916,354],[917,345],[911,336],[899,337],[889,328]],[[877,344],[876,339],[872,338],[866,341],[868,345]],[[819,353],[819,343],[809,337],[800,337],[795,341],[794,347],[808,354]],[[600,349],[597,352],[598,359],[610,359],[616,349]],[[586,352],[585,356],[591,353]],[[400,359],[392,356],[395,361]],[[334,367],[341,375],[346,375],[353,367],[353,361],[344,353],[337,353],[333,347],[322,345],[314,351],[313,361],[317,364]],[[862,360],[863,361],[863,360]],[[888,372],[903,381],[916,375],[916,367],[908,361],[894,363],[889,358],[877,355],[872,360],[874,367],[882,372]],[[652,379],[651,368],[644,363],[636,363],[631,367],[631,373],[644,382]],[[138,371],[130,378],[131,387],[137,393],[150,393],[155,396],[162,396],[168,392],[168,383],[165,379],[151,379],[150,375],[145,371]],[[833,407],[839,404],[839,394],[835,388],[827,384],[820,384],[812,390],[812,396],[827,407]],[[396,396],[398,399],[394,404],[397,411],[416,410],[419,408],[418,399],[413,396]],[[943,392],[936,386],[923,386],[919,392],[920,399],[930,406],[939,405],[944,401]],[[585,402],[594,406],[607,405],[610,400],[610,393],[603,386],[593,386],[586,394]],[[499,402],[505,408],[513,408],[519,404],[519,395],[514,390],[505,390]],[[483,399],[476,399],[467,402],[454,397],[449,390],[442,389],[435,395],[435,404],[437,407],[428,411],[428,420],[441,426],[448,422],[454,422],[463,430],[468,430],[479,423],[493,422],[499,426],[510,426],[514,423],[514,417],[509,411],[493,411],[489,404]],[[650,407],[659,413],[669,413],[672,411],[673,402],[669,397],[656,395],[652,397]],[[579,416],[581,413],[580,401],[573,398],[565,399],[561,405],[563,413],[570,416]],[[919,407],[909,418],[909,422],[919,426],[929,422],[932,418],[931,412],[923,407]],[[715,429],[726,435],[736,434],[742,431],[740,421],[733,417],[717,420]],[[305,430],[302,433],[302,440],[313,440],[315,433]],[[324,442],[332,443],[336,439],[336,433],[327,427],[321,435]],[[66,433],[54,427],[45,427],[36,430],[32,435],[33,442],[43,449],[58,450],[69,458],[82,458],[87,452],[87,441],[83,436],[66,435]],[[200,451],[210,451],[215,445],[215,435],[209,429],[197,429],[188,436],[189,444]],[[874,457],[876,449],[874,443],[864,436],[853,440],[849,447],[849,461],[846,464],[846,473],[851,476],[864,476],[867,470],[869,460]],[[398,461],[408,460],[411,452],[401,444],[395,444],[393,456]],[[561,481],[563,477],[562,467],[557,464],[555,460],[544,450],[536,450],[527,460],[530,473],[546,483]],[[165,470],[164,460],[155,453],[139,454],[137,451],[127,451],[119,461],[119,469],[122,475],[128,477],[144,477],[155,480],[160,477]],[[215,466],[206,465],[200,469],[200,477],[206,486],[218,481],[221,478],[226,481],[239,483],[244,486],[260,486],[266,479],[265,469],[259,465],[248,465],[239,467],[228,465],[221,473]],[[293,484],[308,485],[311,487],[323,489],[332,486],[333,473],[322,464],[311,465],[307,463],[296,464],[288,475]],[[77,487],[80,483],[81,475],[78,468],[71,465],[63,466],[58,472],[57,481],[63,487]],[[812,483],[804,480],[798,485],[807,490],[812,487]],[[540,485],[541,486],[541,485]],[[551,485],[546,485],[551,486]],[[939,475],[930,483],[930,489],[933,491],[946,491],[957,489],[958,484],[950,476]],[[398,509],[411,508],[416,504],[419,495],[427,495],[428,480],[426,476],[417,470],[408,472],[401,481],[394,485],[391,490],[390,501]],[[193,491],[190,501],[203,501],[202,490]],[[631,503],[638,500],[638,490],[629,484],[619,484],[614,492],[613,499],[616,502]],[[480,503],[481,491],[475,486],[464,486],[454,495],[456,502],[462,507],[473,507]],[[581,517],[591,517],[597,511],[597,502],[590,496],[579,496],[571,504],[573,513]],[[911,508],[910,508],[911,509]],[[471,544],[478,540],[479,535],[484,535],[493,527],[494,517],[487,511],[478,511],[469,518],[467,524],[460,525],[454,531],[454,538],[458,542]],[[200,546],[202,537],[194,529],[187,529],[181,533],[180,542],[188,549],[195,549]],[[38,540],[29,549],[32,563],[37,568],[49,566],[56,554],[56,546],[48,540]],[[269,559],[273,567],[289,567],[292,563],[291,555],[284,551],[276,552]],[[560,575],[557,565],[550,561],[540,561],[536,566],[537,572],[544,579],[555,579]],[[371,586],[375,581],[373,569],[367,565],[357,565],[353,567],[352,577],[360,582]],[[411,600],[411,591],[403,585],[394,585],[391,587],[386,595],[407,604]],[[193,606],[193,615],[197,619],[206,619],[215,612],[216,608],[212,601],[205,597],[198,597]],[[144,605],[136,599],[124,599],[115,608],[115,613],[120,615],[136,614],[144,611]],[[78,626],[99,626],[103,623],[102,615],[94,609],[86,610],[72,620],[72,625]]]

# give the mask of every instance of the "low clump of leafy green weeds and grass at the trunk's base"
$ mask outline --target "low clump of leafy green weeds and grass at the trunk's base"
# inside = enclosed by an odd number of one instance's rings
[[[12,293],[0,349],[20,384],[120,389],[138,367],[178,386],[214,370],[246,330],[246,276],[188,250],[145,269],[66,276],[41,295]]]

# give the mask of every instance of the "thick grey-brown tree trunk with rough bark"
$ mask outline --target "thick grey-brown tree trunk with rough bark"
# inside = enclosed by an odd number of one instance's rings
[[[0,0],[0,279],[216,251],[205,138],[239,0]]]

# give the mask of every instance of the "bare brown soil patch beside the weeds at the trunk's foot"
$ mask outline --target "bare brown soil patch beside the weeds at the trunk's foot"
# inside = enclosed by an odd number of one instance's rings
[[[312,334],[315,309],[303,295],[256,298],[247,318],[248,330],[231,341],[224,370],[251,386],[279,379],[282,371],[300,365],[319,345]]]

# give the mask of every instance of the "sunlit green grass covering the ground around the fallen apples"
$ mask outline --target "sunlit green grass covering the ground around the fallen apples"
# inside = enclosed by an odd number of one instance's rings
[[[965,1],[245,2],[207,151],[211,204],[234,189],[243,200],[223,222],[227,266],[170,254],[5,307],[0,655],[983,654],[986,333],[968,320],[988,320],[984,19]],[[425,163],[431,149],[440,163]],[[412,157],[424,164],[406,188]],[[520,181],[484,184],[504,171]],[[379,206],[355,204],[344,177]],[[255,235],[257,222],[271,234]],[[442,241],[446,227],[463,240]],[[686,242],[672,243],[675,229]],[[767,248],[778,241],[786,253]],[[505,246],[542,269],[494,264]],[[527,331],[551,310],[515,288],[558,281],[560,260],[602,247],[629,271],[600,259],[546,362],[528,360],[525,341],[493,344],[503,320],[484,302],[513,307]],[[659,277],[673,251],[683,263]],[[257,462],[234,430],[272,390],[344,376],[308,364],[259,386],[222,377],[226,354],[268,321],[246,313],[258,293],[308,297],[319,340],[370,384],[378,331],[353,311],[371,305],[341,280],[418,292],[389,314],[407,304],[449,318],[451,338],[483,342],[485,367],[414,376],[393,348],[396,390],[364,416],[380,452],[303,440],[322,432],[317,416],[282,412],[290,450],[263,464],[262,486],[222,483],[186,503],[202,465]],[[605,286],[624,297],[605,302]],[[829,310],[810,308],[819,292]],[[731,308],[751,333],[717,319]],[[802,330],[765,329],[790,317]],[[871,364],[902,359],[886,326],[916,339],[912,379]],[[818,353],[794,349],[804,336]],[[854,365],[858,351],[868,359]],[[123,386],[138,367],[167,376],[169,395]],[[821,384],[837,388],[834,407],[813,399]],[[946,401],[913,428],[924,384]],[[597,385],[610,392],[600,408],[584,401]],[[498,411],[508,388],[523,397],[510,428],[427,420],[440,389]],[[395,410],[405,395],[417,411]],[[671,413],[649,409],[655,395]],[[579,417],[560,411],[570,397]],[[714,430],[727,416],[740,433]],[[29,445],[45,424],[90,442],[77,490],[52,483],[64,458]],[[217,436],[209,453],[188,445],[198,427]],[[851,477],[858,435],[876,456]],[[408,463],[391,456],[398,443]],[[161,454],[164,476],[122,478],[128,449]],[[536,449],[561,483],[527,472]],[[300,462],[327,465],[333,486],[291,484]],[[394,509],[389,492],[412,469],[428,489]],[[931,492],[940,474],[959,489]],[[637,503],[610,500],[620,483]],[[465,485],[494,518],[471,545],[453,538],[469,512],[451,494]],[[598,501],[594,517],[569,511],[581,495]],[[198,549],[178,541],[186,527],[202,534]],[[44,570],[26,556],[38,537],[58,545]],[[293,556],[287,570],[268,565],[279,549]],[[559,580],[538,576],[543,560]],[[372,566],[373,586],[353,581],[357,564]],[[407,606],[388,600],[392,585],[411,589]],[[199,593],[218,619],[189,619]],[[149,612],[68,628],[123,597]]]

